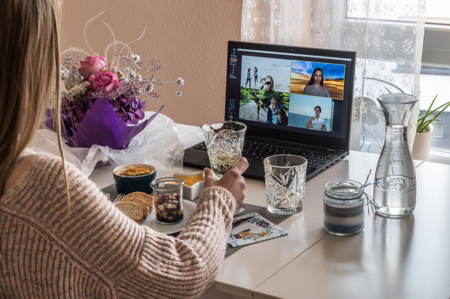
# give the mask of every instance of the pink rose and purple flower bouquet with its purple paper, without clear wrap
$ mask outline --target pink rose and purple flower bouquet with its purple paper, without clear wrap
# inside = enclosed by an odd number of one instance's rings
[[[160,98],[153,86],[169,82],[154,77],[163,70],[158,59],[151,58],[144,64],[138,55],[114,54],[109,64],[103,56],[88,56],[82,61],[81,55],[75,56],[71,48],[66,52],[61,64],[61,79],[65,83],[61,113],[63,137],[71,147],[96,144],[123,150],[164,107],[139,123],[145,117],[146,102],[142,97]],[[180,96],[183,79],[171,82],[178,85],[176,95]],[[46,122],[53,121],[49,118]]]

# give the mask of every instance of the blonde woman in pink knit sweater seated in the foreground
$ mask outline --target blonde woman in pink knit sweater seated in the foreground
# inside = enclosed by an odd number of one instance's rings
[[[77,167],[27,150],[60,76],[58,2],[1,7],[0,297],[199,296],[217,276],[242,205],[246,160],[219,181],[205,169],[205,190],[177,238],[138,225]]]

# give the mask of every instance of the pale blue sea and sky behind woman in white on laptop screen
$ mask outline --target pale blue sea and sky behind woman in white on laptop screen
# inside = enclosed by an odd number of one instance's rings
[[[322,130],[314,129],[313,124],[311,124],[309,128],[306,128],[308,121],[310,121],[312,117],[316,117],[314,108],[317,106],[322,110],[319,117],[323,118],[326,130],[328,132],[332,131],[331,115],[333,111],[333,102],[331,98],[304,94],[290,94],[288,126],[319,131]]]

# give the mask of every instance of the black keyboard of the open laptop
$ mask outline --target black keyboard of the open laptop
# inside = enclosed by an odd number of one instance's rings
[[[205,142],[197,144],[193,148],[197,150],[206,151],[207,147]],[[328,163],[336,155],[328,153],[319,153],[312,151],[298,150],[297,148],[289,148],[277,145],[270,145],[258,142],[244,141],[244,146],[242,147],[242,157],[250,159],[264,160],[267,157],[275,155],[296,155],[308,160],[308,168],[317,169],[322,165]]]

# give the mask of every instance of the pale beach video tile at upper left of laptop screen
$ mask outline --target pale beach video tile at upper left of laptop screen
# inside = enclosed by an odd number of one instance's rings
[[[286,59],[243,55],[241,87],[289,92],[290,62]],[[268,82],[273,84],[273,88],[266,84]]]

